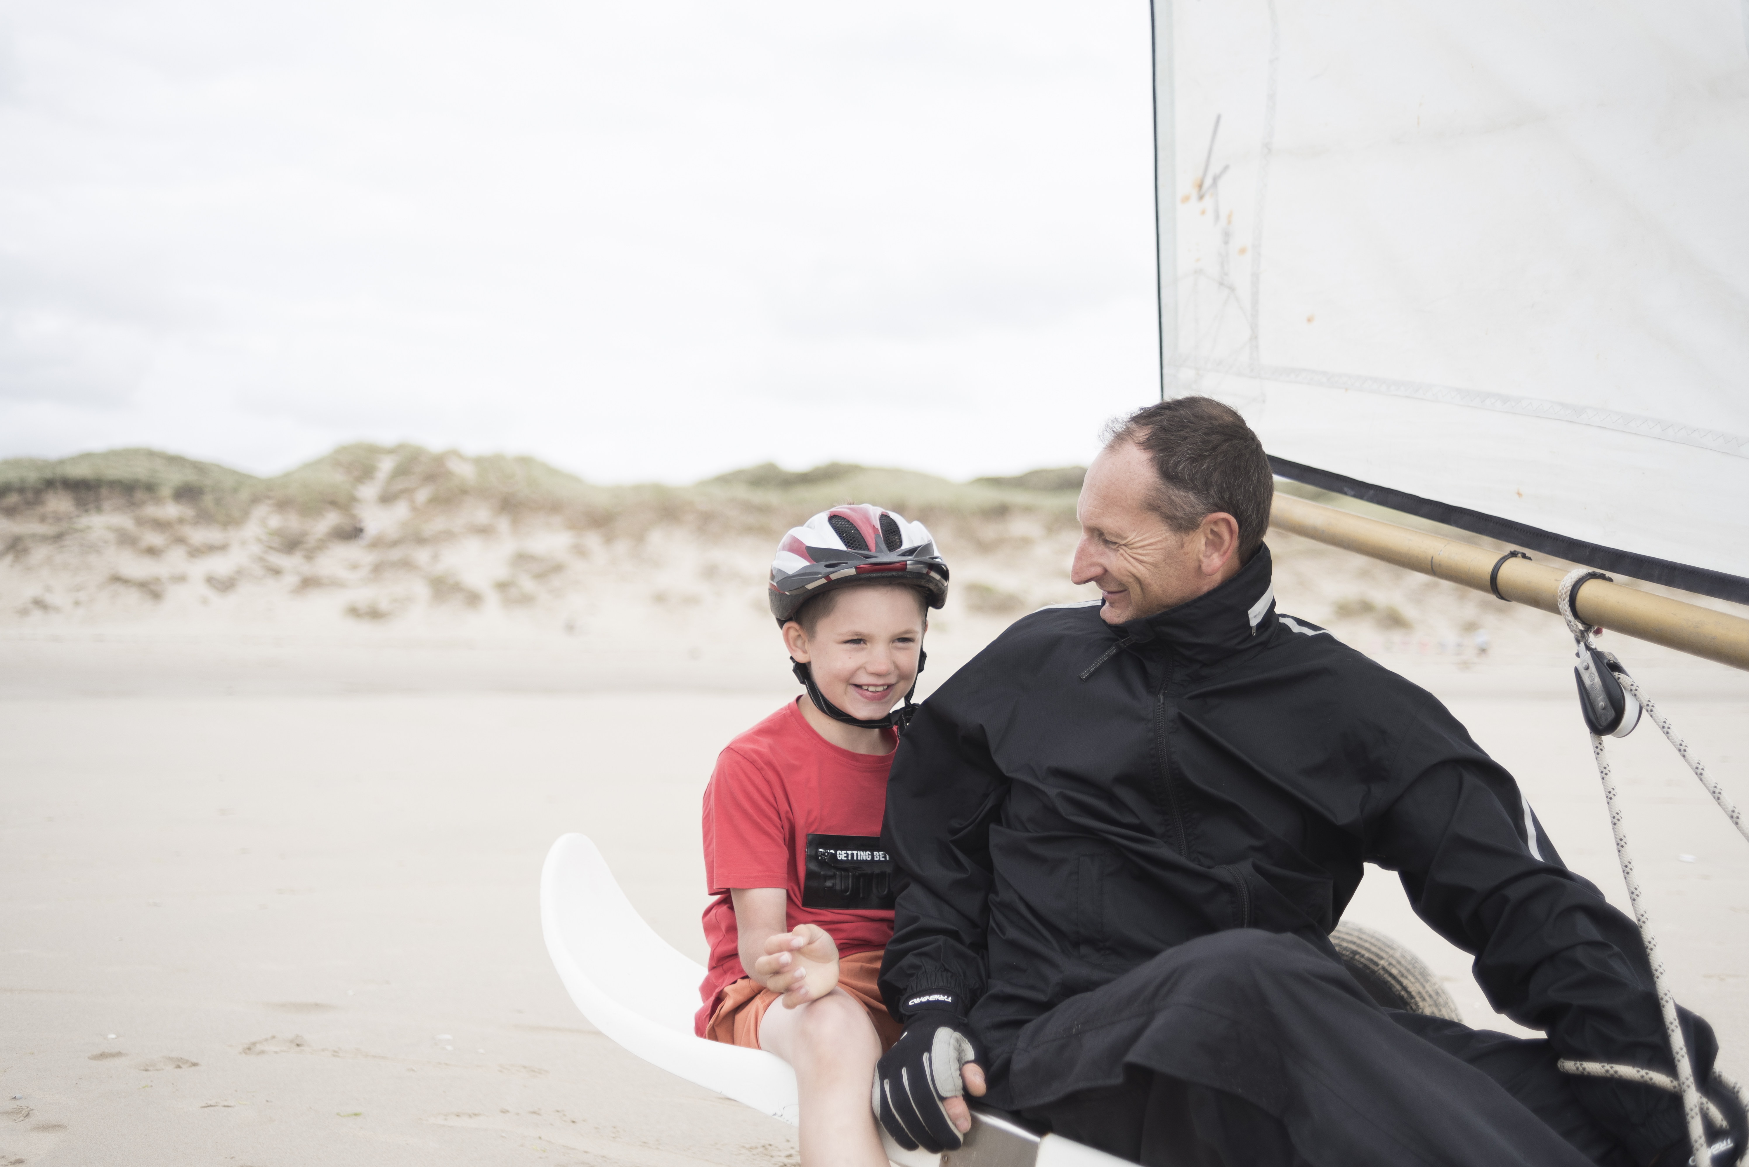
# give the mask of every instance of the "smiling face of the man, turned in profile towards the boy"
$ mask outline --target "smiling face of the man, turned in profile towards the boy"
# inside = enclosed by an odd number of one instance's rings
[[[1179,535],[1168,528],[1149,507],[1158,489],[1147,452],[1133,442],[1100,451],[1081,484],[1081,542],[1070,578],[1098,587],[1105,624],[1151,617],[1214,585],[1203,570],[1202,531]]]

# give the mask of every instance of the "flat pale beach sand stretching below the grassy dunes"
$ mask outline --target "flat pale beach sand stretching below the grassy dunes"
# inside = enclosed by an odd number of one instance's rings
[[[1399,577],[1301,584],[1296,606],[1294,571],[1284,608],[1310,618],[1354,587],[1408,604],[1418,631],[1362,613],[1345,636],[1439,694],[1621,903],[1558,624]],[[1495,629],[1487,655],[1471,611]],[[950,611],[932,674],[1002,618]],[[752,632],[637,620],[612,643],[0,629],[0,1165],[794,1160],[787,1127],[595,1032],[540,940],[540,860],[582,830],[651,924],[703,956],[700,791],[722,742],[794,694]],[[673,643],[696,659],[658,652]],[[1749,802],[1749,674],[1614,648]],[[1653,727],[1618,769],[1679,996],[1744,1076],[1749,844]],[[1389,874],[1348,919],[1413,947],[1471,1024],[1511,1027]]]

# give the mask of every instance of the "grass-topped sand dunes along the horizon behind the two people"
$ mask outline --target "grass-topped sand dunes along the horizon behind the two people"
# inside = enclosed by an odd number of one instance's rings
[[[665,673],[651,645],[684,641],[715,681],[757,683],[777,535],[834,501],[878,500],[927,522],[953,566],[932,629],[946,666],[1023,611],[1088,597],[1065,578],[1077,482],[1076,468],[955,484],[833,465],[598,487],[526,458],[369,445],[269,480],[152,451],[12,459],[0,629],[539,646],[603,683]],[[1284,610],[1368,652],[1564,650],[1539,613],[1289,535],[1270,543]]]

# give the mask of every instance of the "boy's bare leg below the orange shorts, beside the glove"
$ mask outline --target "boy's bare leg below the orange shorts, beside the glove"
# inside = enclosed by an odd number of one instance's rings
[[[759,1045],[796,1067],[803,1167],[885,1167],[869,1108],[880,1038],[854,996],[833,989],[792,1010],[773,1003]]]

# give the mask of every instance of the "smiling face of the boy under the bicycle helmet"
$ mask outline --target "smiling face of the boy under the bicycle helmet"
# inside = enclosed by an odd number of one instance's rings
[[[923,646],[923,604],[915,587],[847,587],[813,625],[784,625],[789,655],[813,673],[813,683],[854,718],[874,720],[916,680]]]

